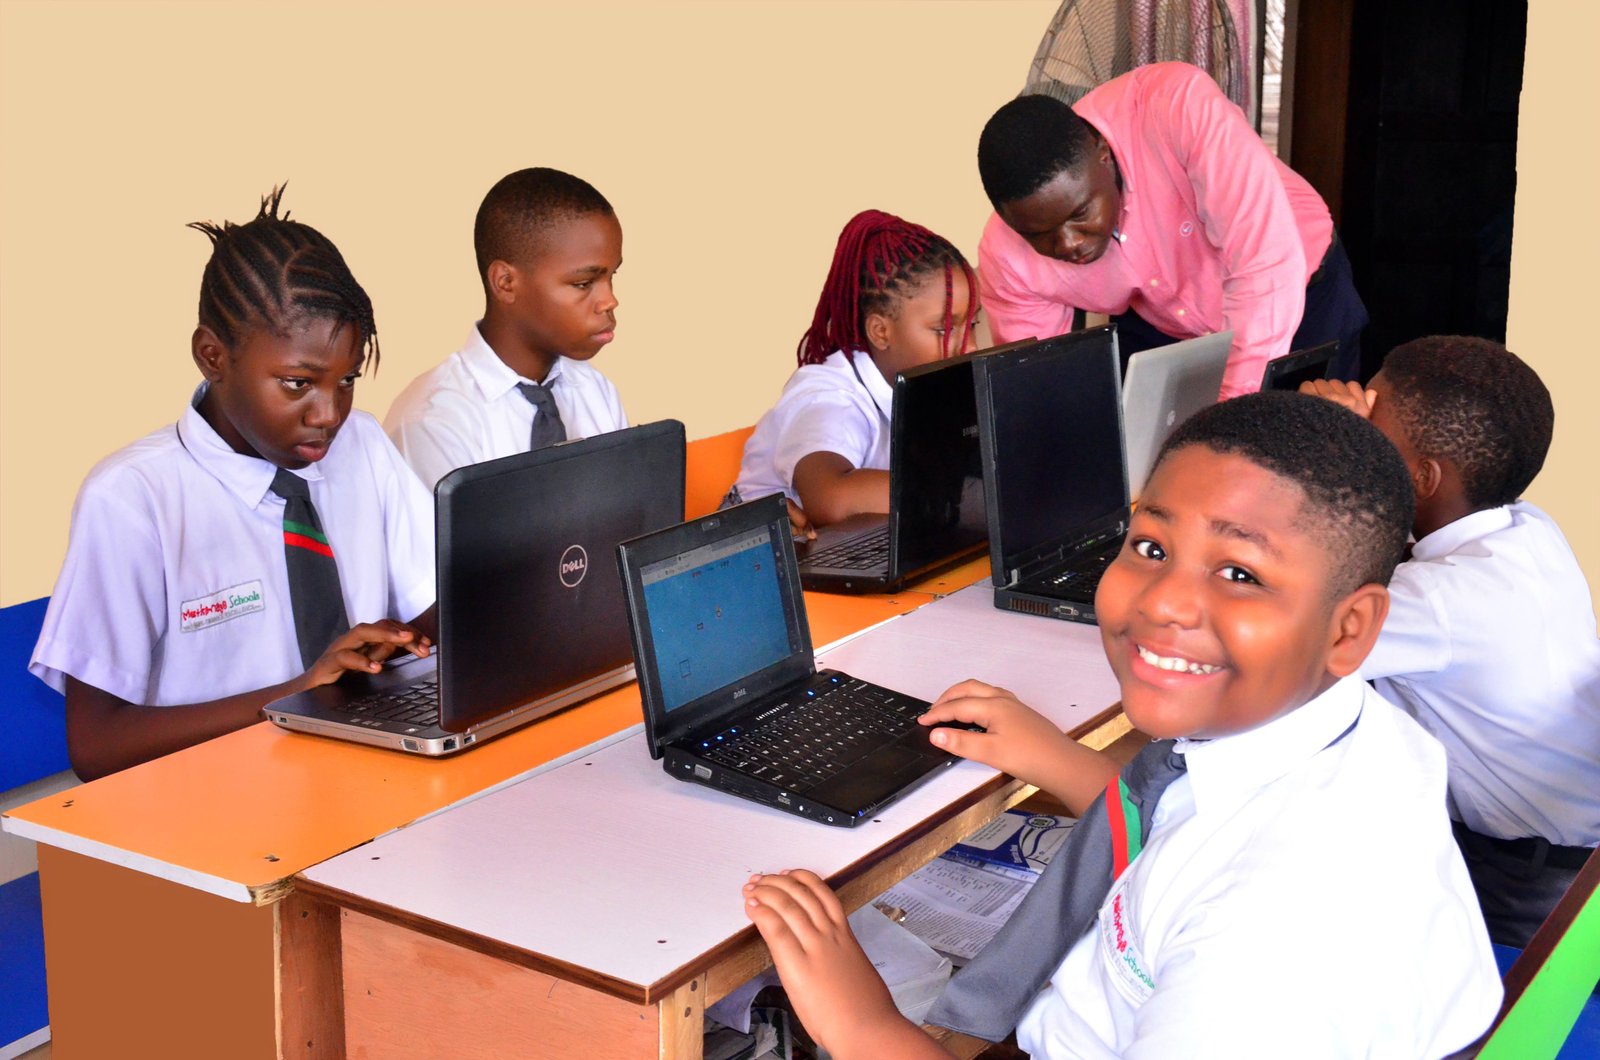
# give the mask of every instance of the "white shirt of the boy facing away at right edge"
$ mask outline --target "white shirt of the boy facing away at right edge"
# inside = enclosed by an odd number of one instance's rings
[[[1362,676],[1438,737],[1472,831],[1600,842],[1600,639],[1589,583],[1526,501],[1411,549]]]

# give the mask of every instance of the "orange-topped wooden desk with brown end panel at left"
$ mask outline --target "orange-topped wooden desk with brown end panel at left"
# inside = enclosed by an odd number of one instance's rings
[[[806,610],[827,644],[930,599]],[[10,810],[40,844],[54,1055],[338,1055],[317,1030],[330,925],[291,877],[638,722],[629,685],[437,761],[261,724]]]

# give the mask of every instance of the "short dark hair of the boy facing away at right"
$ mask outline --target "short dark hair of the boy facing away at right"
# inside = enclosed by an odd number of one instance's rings
[[[1474,509],[1510,504],[1544,468],[1550,391],[1501,343],[1430,335],[1395,346],[1382,373],[1411,447],[1454,464]]]

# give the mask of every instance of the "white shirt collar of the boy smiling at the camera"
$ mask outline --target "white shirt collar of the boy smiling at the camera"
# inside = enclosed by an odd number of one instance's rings
[[[1179,740],[1195,812],[1229,812],[1338,740],[1362,713],[1366,684],[1350,676],[1266,725],[1216,740]]]

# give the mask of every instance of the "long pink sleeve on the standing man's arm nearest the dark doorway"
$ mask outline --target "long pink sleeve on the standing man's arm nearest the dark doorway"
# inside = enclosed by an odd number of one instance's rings
[[[1299,330],[1306,248],[1278,163],[1243,112],[1200,70],[1168,85],[1154,112],[1222,264],[1222,327],[1232,328],[1234,347],[1221,395],[1250,394]]]

